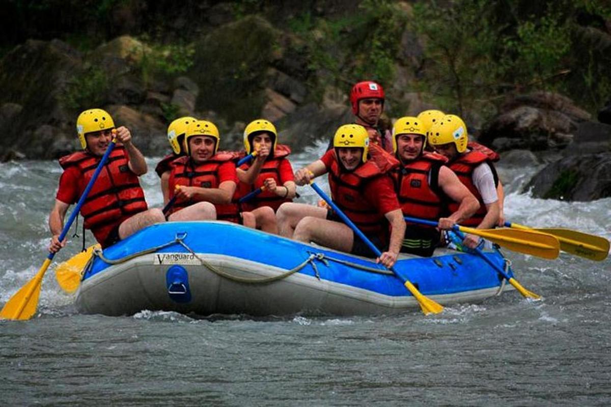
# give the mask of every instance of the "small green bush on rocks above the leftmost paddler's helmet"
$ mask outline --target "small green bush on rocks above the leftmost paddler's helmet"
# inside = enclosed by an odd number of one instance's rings
[[[109,79],[103,69],[90,67],[76,74],[59,96],[60,103],[73,112],[106,103]]]

